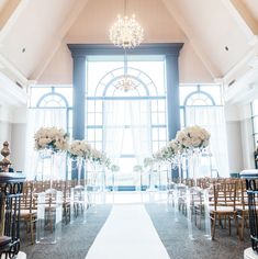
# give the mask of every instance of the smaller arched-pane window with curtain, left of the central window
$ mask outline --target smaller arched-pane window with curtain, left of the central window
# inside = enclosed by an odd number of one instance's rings
[[[72,133],[72,88],[71,86],[36,86],[31,88],[29,103],[27,134],[26,134],[26,156],[27,161],[25,172],[27,179],[43,179],[37,153],[34,151],[34,134],[43,126],[56,126],[64,128],[69,134]],[[49,167],[49,159],[44,159],[44,165]],[[48,165],[48,166],[47,166]],[[57,179],[68,177],[65,160],[61,161],[61,173],[54,176]],[[49,170],[48,170],[49,171]],[[47,172],[47,170],[45,170]],[[49,176],[44,176],[47,179]]]

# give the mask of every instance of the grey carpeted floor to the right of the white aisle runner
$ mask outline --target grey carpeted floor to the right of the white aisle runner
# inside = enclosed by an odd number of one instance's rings
[[[158,235],[171,259],[243,259],[244,250],[250,247],[249,233],[240,241],[233,226],[232,236],[228,229],[216,227],[215,240],[207,240],[198,228],[195,240],[190,240],[188,223],[181,213],[178,222],[167,204],[145,205]]]

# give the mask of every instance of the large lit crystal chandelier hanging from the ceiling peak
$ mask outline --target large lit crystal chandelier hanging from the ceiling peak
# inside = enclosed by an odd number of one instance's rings
[[[116,22],[110,29],[110,41],[119,47],[134,48],[144,40],[144,30],[135,20],[126,15],[126,0],[124,1],[124,18],[117,15]]]

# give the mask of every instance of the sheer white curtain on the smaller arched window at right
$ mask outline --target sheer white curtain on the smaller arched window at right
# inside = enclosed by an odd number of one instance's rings
[[[199,125],[211,133],[211,153],[220,177],[228,177],[226,124],[223,106],[187,106],[187,126]]]

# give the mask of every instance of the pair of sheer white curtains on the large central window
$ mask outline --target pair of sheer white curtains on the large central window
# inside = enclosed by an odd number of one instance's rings
[[[138,165],[152,154],[150,105],[148,100],[105,101],[103,106],[104,151],[119,164],[125,142],[125,125],[128,126],[133,151]]]

